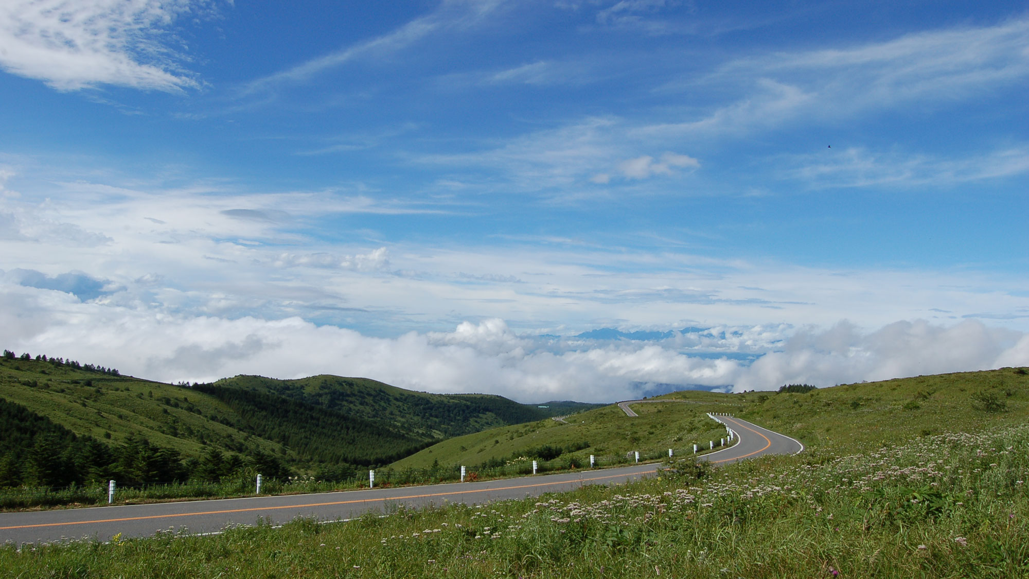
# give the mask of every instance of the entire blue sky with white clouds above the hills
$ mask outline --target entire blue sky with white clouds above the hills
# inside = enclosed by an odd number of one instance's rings
[[[1027,79],[1014,2],[16,0],[0,337],[523,401],[1029,365]]]

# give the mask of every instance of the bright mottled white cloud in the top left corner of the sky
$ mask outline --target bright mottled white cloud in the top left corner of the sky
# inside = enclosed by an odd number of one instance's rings
[[[62,91],[98,84],[181,91],[197,81],[168,47],[190,0],[9,0],[0,5],[0,67]]]

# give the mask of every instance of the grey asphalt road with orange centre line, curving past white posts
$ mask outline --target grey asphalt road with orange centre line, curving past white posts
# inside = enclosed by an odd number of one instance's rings
[[[732,463],[769,453],[795,453],[804,446],[750,422],[718,416],[739,435],[734,446],[702,456],[716,464]],[[398,506],[424,507],[448,503],[483,504],[524,499],[543,492],[578,488],[583,484],[615,484],[652,475],[659,465],[579,471],[491,481],[376,488],[317,495],[253,497],[217,501],[159,503],[0,513],[0,543],[50,543],[74,539],[107,541],[122,537],[148,537],[167,530],[215,533],[230,524],[265,520],[279,524],[296,517],[340,520],[367,512],[388,512]]]

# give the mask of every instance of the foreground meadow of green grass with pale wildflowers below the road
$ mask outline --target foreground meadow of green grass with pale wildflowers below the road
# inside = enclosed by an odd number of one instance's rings
[[[485,507],[0,548],[10,577],[1022,577],[1029,427]]]

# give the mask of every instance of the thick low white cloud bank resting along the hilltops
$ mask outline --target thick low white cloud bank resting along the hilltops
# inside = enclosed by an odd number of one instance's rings
[[[435,393],[500,394],[522,402],[610,402],[640,396],[653,383],[774,389],[792,382],[825,386],[1029,365],[1025,334],[979,321],[949,327],[899,321],[872,333],[847,323],[808,330],[781,351],[747,366],[664,342],[542,342],[516,335],[500,319],[462,322],[453,332],[372,338],[296,317],[158,314],[10,285],[0,286],[0,328],[6,348],[113,366],[149,379],[329,373]],[[720,340],[714,334],[708,339]],[[762,346],[765,351],[770,347]]]

